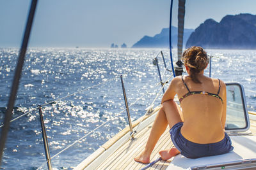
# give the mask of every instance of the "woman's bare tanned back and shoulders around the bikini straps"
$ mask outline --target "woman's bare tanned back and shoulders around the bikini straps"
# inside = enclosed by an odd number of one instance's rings
[[[185,97],[180,102],[184,124],[181,133],[184,138],[195,143],[216,143],[224,138],[225,115],[226,115],[226,87],[223,81],[198,76],[202,83],[193,82],[188,76],[185,76],[184,82],[188,89],[192,91],[204,91],[217,94],[223,99],[217,97],[193,94]],[[188,89],[181,76],[174,80],[172,90],[178,95],[179,99],[188,94]],[[171,86],[171,85],[170,85]],[[172,97],[171,97],[172,98]]]

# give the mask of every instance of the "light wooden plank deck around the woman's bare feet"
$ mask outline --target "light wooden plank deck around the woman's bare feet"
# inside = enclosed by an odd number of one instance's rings
[[[253,135],[255,135],[256,121],[250,120],[250,123],[250,131],[252,132]],[[104,160],[104,162],[102,162],[102,164],[100,164],[100,166],[97,167],[97,169],[141,169],[147,166],[147,164],[135,162],[134,157],[139,155],[139,153],[141,153],[143,148],[145,147],[151,127],[152,125],[149,125],[147,128],[138,132],[138,134],[134,136],[134,141],[130,140],[123,146],[121,146],[110,157]],[[157,145],[154,148],[154,151],[152,152],[150,160],[153,161],[159,158],[158,152],[160,150],[171,148],[172,145],[172,140],[170,139],[170,134],[167,128],[164,134],[157,142]],[[167,161],[161,160],[148,169],[166,169],[171,161],[172,159]]]

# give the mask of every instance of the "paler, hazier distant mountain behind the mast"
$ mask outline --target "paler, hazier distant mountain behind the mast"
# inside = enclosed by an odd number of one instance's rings
[[[183,44],[186,44],[191,32],[193,29],[184,29],[184,41]],[[172,26],[172,46],[177,46],[177,36],[178,29],[177,27]],[[154,37],[144,36],[137,43],[132,45],[132,48],[169,48],[169,28],[164,28],[160,34],[156,34]]]

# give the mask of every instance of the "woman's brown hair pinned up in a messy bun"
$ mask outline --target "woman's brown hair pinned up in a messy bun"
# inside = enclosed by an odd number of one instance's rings
[[[189,76],[195,83],[201,83],[197,74],[204,70],[208,64],[207,53],[201,46],[191,46],[183,52],[182,60],[184,65],[190,69]]]

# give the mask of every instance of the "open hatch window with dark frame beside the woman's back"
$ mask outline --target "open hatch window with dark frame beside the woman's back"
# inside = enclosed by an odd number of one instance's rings
[[[227,86],[227,118],[225,129],[247,131],[249,129],[248,112],[244,89],[241,83],[226,83]]]

